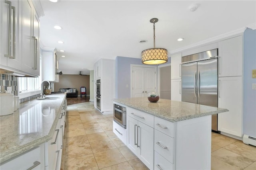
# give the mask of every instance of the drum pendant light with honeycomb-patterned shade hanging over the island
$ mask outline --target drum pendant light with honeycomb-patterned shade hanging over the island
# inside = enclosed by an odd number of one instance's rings
[[[163,64],[168,61],[167,50],[155,47],[155,23],[157,18],[152,18],[151,23],[154,23],[154,48],[142,51],[141,61],[143,64]]]

